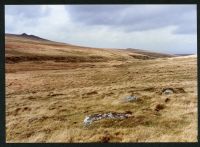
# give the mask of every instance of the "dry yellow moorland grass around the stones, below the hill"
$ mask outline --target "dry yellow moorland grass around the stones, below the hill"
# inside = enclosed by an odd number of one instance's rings
[[[197,142],[197,57],[123,54],[124,61],[6,64],[6,142]],[[162,95],[166,87],[177,93]],[[130,94],[139,100],[123,103]],[[110,111],[133,116],[83,126],[85,116]]]

